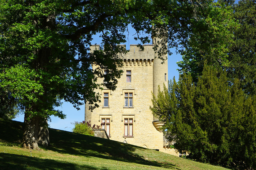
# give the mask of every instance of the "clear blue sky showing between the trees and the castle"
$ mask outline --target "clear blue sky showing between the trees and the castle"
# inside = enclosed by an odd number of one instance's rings
[[[126,48],[130,47],[130,44],[138,44],[138,41],[135,41],[133,39],[134,30],[129,27],[129,37],[128,33],[126,33],[127,42],[125,43]],[[151,36],[151,35],[150,35]],[[99,35],[93,36],[92,44],[100,44],[101,39]],[[152,42],[151,42],[152,43]],[[170,49],[170,51],[173,52],[173,55],[168,55],[168,80],[173,79],[175,76],[176,80],[178,79],[179,73],[177,69],[179,68],[176,64],[177,61],[182,60],[182,56],[177,54],[175,52],[175,49]],[[84,105],[80,106],[80,110],[76,110],[72,104],[68,102],[62,101],[63,104],[61,107],[58,107],[56,109],[61,110],[64,114],[67,115],[66,119],[60,119],[55,116],[51,116],[51,122],[48,122],[50,125],[50,128],[60,129],[60,130],[66,130],[66,131],[72,131],[72,128],[74,125],[71,123],[74,123],[74,121],[82,122],[84,120]],[[14,120],[23,122],[24,121],[24,114],[18,115]]]

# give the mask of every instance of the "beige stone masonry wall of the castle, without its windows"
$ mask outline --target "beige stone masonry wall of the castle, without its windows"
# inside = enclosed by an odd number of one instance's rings
[[[93,50],[97,46],[91,46]],[[149,107],[152,106],[153,92],[153,74],[157,76],[159,84],[165,82],[164,74],[167,74],[167,61],[164,68],[161,68],[159,62],[155,64],[153,45],[145,45],[144,51],[141,51],[136,45],[130,46],[130,52],[125,56],[123,75],[118,80],[115,91],[98,90],[102,96],[99,108],[90,112],[85,111],[85,120],[91,120],[91,124],[100,125],[102,118],[110,118],[110,139],[120,142],[126,141],[129,144],[137,145],[149,149],[163,149],[163,133],[156,130],[153,125],[153,115]],[[158,69],[155,73],[153,66]],[[156,67],[157,66],[157,67]],[[97,66],[93,65],[95,69]],[[166,67],[166,68],[165,68]],[[131,70],[131,82],[126,82],[126,70]],[[167,75],[166,75],[167,76]],[[166,81],[168,77],[166,77]],[[98,80],[103,81],[103,80]],[[158,86],[158,84],[157,84]],[[133,107],[124,107],[124,93],[133,93]],[[109,107],[103,107],[103,95],[109,93]],[[133,136],[124,136],[124,119],[133,119]]]

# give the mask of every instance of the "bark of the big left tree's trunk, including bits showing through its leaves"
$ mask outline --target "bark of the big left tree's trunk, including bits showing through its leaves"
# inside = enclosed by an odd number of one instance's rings
[[[33,1],[29,1],[28,3],[33,4]],[[56,24],[56,16],[55,12],[50,13],[47,17],[42,18],[32,18],[34,21],[34,24],[40,27],[40,29],[49,29],[54,30],[55,24]],[[40,21],[40,22],[39,22]],[[45,72],[49,71],[47,70],[47,67],[50,64],[49,56],[51,56],[51,48],[49,46],[42,47],[35,49],[34,51],[35,56],[37,58],[34,60],[34,63],[31,64],[31,68],[38,71],[38,69],[43,70]],[[44,87],[47,87],[48,84],[42,84]],[[44,89],[44,91],[47,91],[47,88]],[[52,97],[52,96],[50,96]],[[55,96],[54,96],[55,97]],[[40,98],[40,97],[39,97]],[[41,101],[46,100],[47,98],[40,98]],[[37,109],[40,106],[36,106],[34,104],[33,108],[30,108],[30,111],[39,111],[43,112],[40,109]],[[48,146],[50,144],[49,142],[49,131],[48,131],[48,121],[47,116],[46,118],[37,116],[37,115],[28,115],[27,111],[25,111],[25,117],[24,117],[24,134],[22,139],[22,146],[24,148],[28,149],[39,149],[38,145],[44,145]],[[29,118],[29,120],[27,119]]]

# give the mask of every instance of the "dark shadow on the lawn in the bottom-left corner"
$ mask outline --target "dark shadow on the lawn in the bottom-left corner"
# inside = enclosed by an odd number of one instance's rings
[[[9,153],[0,153],[0,162],[0,169],[98,169],[90,165],[78,165]]]

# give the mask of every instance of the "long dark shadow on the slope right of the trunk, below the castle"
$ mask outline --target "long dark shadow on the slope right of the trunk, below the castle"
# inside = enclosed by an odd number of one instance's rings
[[[142,155],[134,152],[136,149],[141,150],[141,152],[145,150],[138,146],[57,129],[49,129],[49,134],[51,145],[46,149],[59,153],[94,156],[163,168],[177,168],[170,163],[162,164],[157,161],[145,160]]]

